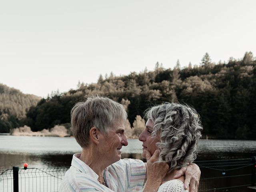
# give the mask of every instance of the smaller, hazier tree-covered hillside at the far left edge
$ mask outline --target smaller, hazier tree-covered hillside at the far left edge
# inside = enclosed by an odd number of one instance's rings
[[[26,117],[26,111],[36,106],[40,99],[0,83],[0,132],[9,132],[19,126],[20,120]]]

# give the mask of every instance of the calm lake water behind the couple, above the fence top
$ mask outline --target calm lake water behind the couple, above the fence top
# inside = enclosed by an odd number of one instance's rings
[[[140,158],[142,142],[128,140],[122,158]],[[0,169],[22,167],[70,166],[72,154],[81,151],[74,138],[0,135]],[[197,160],[251,158],[256,156],[256,141],[200,140]]]

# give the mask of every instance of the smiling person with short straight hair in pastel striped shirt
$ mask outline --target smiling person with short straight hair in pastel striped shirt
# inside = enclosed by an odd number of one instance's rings
[[[147,155],[147,163],[121,159],[120,150],[128,145],[124,132],[126,119],[122,104],[106,97],[91,96],[72,108],[72,132],[82,152],[73,155],[60,185],[61,192],[158,190],[169,169],[167,163],[158,162],[159,150]],[[188,166],[187,172],[200,174],[194,164]]]

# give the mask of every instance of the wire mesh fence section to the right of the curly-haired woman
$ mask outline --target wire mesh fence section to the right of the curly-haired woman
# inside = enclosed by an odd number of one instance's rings
[[[252,185],[252,159],[198,161],[199,192],[246,192]]]

